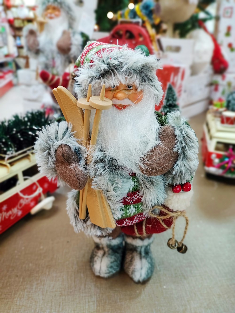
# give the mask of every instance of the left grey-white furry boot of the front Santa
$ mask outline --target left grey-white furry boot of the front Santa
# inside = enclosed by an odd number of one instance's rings
[[[90,263],[96,276],[110,277],[117,273],[122,266],[124,250],[123,234],[117,238],[92,237],[96,246],[92,250]]]

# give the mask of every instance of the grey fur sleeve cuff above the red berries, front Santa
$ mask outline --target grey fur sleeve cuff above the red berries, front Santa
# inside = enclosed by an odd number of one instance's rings
[[[198,167],[198,140],[195,132],[181,118],[180,112],[167,114],[168,124],[175,129],[176,143],[174,151],[179,157],[173,169],[165,174],[168,184],[177,185],[187,182],[194,176]]]

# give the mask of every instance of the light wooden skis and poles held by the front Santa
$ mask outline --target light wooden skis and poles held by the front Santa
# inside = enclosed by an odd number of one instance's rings
[[[60,109],[64,114],[65,120],[72,124],[72,131],[75,131],[76,139],[82,140],[82,145],[88,149],[87,164],[91,162],[91,153],[97,141],[99,123],[102,110],[108,110],[112,107],[112,101],[105,98],[105,85],[99,96],[91,95],[91,84],[88,87],[86,98],[76,100],[76,98],[64,87],[53,89],[53,94],[60,105]],[[90,140],[90,117],[91,110],[96,110]],[[83,111],[84,110],[84,111]],[[79,217],[86,218],[86,207],[88,208],[91,223],[102,228],[115,228],[116,223],[112,216],[111,209],[107,203],[107,199],[101,190],[91,187],[92,177],[88,178],[88,182],[83,190],[80,191],[79,198]]]

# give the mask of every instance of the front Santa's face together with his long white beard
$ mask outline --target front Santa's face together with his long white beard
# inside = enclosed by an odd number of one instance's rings
[[[112,87],[107,88],[105,96],[113,105],[102,111],[96,148],[115,158],[129,172],[139,173],[141,158],[158,143],[155,96],[148,89],[138,91],[136,85],[128,82]],[[91,131],[95,111],[91,110]]]

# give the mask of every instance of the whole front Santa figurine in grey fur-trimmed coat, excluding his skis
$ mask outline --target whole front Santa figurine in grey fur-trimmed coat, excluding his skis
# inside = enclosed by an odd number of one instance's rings
[[[41,172],[58,176],[72,187],[67,212],[75,231],[83,231],[95,242],[90,258],[94,274],[110,277],[123,266],[135,282],[144,282],[154,270],[153,234],[172,224],[171,219],[159,223],[159,216],[166,209],[174,213],[189,205],[198,141],[178,111],[164,116],[164,122],[154,111],[163,95],[154,55],[89,42],[77,65],[77,97],[86,97],[89,84],[92,94],[99,95],[105,84],[105,97],[113,104],[102,112],[91,162],[86,163],[87,151],[65,121],[40,132],[35,145],[37,162]],[[79,190],[88,177],[107,199],[115,229],[92,224],[88,211],[85,219],[79,218]]]

